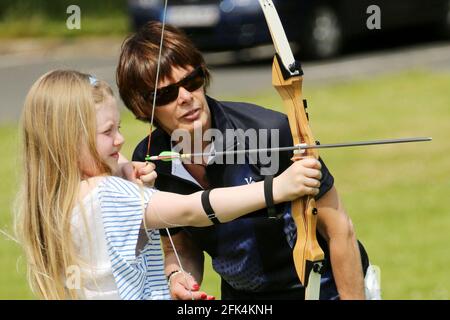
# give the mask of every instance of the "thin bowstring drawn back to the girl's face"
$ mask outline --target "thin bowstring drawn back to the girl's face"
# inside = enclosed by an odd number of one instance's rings
[[[159,83],[159,73],[160,73],[160,66],[161,66],[161,56],[162,56],[162,48],[163,48],[163,41],[164,41],[164,30],[165,30],[165,26],[166,26],[166,16],[167,16],[167,3],[168,0],[164,1],[164,10],[163,10],[163,19],[162,19],[162,28],[161,28],[161,40],[159,43],[159,54],[158,54],[158,64],[156,67],[156,82],[155,82],[155,91],[153,92],[153,104],[152,104],[152,116],[150,119],[150,132],[149,132],[149,136],[148,136],[148,144],[147,144],[147,157],[150,156],[150,143],[151,143],[151,137],[152,137],[152,132],[153,132],[153,121],[155,118],[155,108],[156,108],[156,94],[158,92],[158,83]],[[146,161],[148,162],[148,161]],[[145,220],[145,219],[144,219]],[[147,232],[147,228],[144,226],[145,228],[145,232],[147,233],[147,237],[148,237],[148,232]],[[191,299],[194,299],[194,295],[192,294],[192,290],[188,284],[188,279],[186,276],[186,272],[184,271],[183,265],[181,263],[181,259],[180,256],[178,255],[178,251],[175,248],[175,244],[173,242],[172,236],[170,235],[169,232],[169,228],[165,228],[167,235],[169,237],[170,240],[170,244],[172,246],[173,252],[175,253],[175,257],[177,259],[178,265],[180,266],[180,270],[183,273],[184,276],[184,281],[186,284],[186,288],[188,288],[189,294],[191,295]]]

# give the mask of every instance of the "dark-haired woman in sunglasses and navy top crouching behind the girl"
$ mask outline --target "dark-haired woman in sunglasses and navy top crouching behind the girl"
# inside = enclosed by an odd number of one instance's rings
[[[228,141],[223,138],[230,129],[244,132],[276,129],[279,141],[259,138],[257,145],[270,146],[276,142],[279,147],[292,145],[284,114],[247,103],[219,102],[206,95],[210,75],[204,59],[179,29],[165,26],[159,60],[161,31],[159,22],[150,22],[127,38],[117,67],[117,83],[127,108],[137,119],[157,126],[136,147],[133,160],[143,161],[147,155],[173,149],[174,142],[178,142],[174,135],[179,130],[190,134],[187,139],[190,141],[183,143],[201,145],[202,150],[209,151],[246,145],[245,137]],[[155,83],[158,68],[159,81]],[[203,139],[201,134],[195,134],[196,130],[204,133],[209,129],[223,133],[223,141]],[[265,168],[259,163],[220,164],[210,161],[211,153],[207,154],[209,157],[189,159],[189,162],[157,161],[156,188],[190,194],[264,179]],[[289,166],[292,155],[280,152],[278,156],[275,175]],[[320,298],[364,299],[363,270],[367,268],[368,258],[362,246],[358,247],[351,220],[323,162],[316,200],[320,213],[318,239],[328,267],[322,276]],[[163,236],[165,272],[171,283],[172,297],[190,299],[190,292],[199,290],[205,251],[221,276],[222,299],[303,299],[304,288],[297,278],[292,258],[296,228],[289,208],[289,203],[278,205],[278,219],[268,219],[267,210],[263,209],[213,227],[170,229],[182,267],[189,272],[183,274],[167,235]]]

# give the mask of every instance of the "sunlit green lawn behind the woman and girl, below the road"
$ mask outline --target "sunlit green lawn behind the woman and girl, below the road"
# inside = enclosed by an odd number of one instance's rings
[[[341,85],[309,87],[311,126],[322,143],[432,136],[433,142],[322,151],[373,264],[385,299],[449,299],[450,74],[414,71]],[[279,106],[275,92],[227,97]],[[148,128],[123,115],[131,155]],[[17,187],[17,136],[0,127],[0,226],[8,229]],[[0,236],[0,299],[32,298],[19,249]],[[209,260],[208,260],[209,261]],[[16,266],[17,265],[17,266]],[[203,290],[220,297],[207,263]],[[18,271],[17,271],[18,269]]]

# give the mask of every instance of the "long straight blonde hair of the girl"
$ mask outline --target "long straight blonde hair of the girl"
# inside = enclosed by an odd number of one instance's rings
[[[87,74],[56,70],[39,78],[25,100],[16,235],[25,251],[31,289],[40,298],[77,298],[65,279],[78,260],[71,213],[82,178],[80,146],[87,146],[98,172],[111,173],[95,142],[95,105],[107,95],[113,92],[104,82],[91,84]]]

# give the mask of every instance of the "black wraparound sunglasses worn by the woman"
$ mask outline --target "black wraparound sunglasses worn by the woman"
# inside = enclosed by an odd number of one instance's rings
[[[156,92],[155,106],[160,107],[175,101],[178,98],[180,87],[183,87],[189,92],[193,92],[199,89],[204,84],[205,72],[203,71],[203,67],[200,66],[195,68],[190,74],[188,74],[177,83],[173,83],[171,85],[158,89]],[[147,99],[149,100],[149,102],[153,103],[154,96],[154,92],[150,92],[147,95]]]

